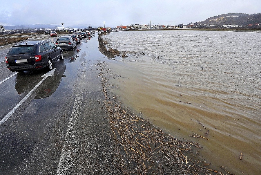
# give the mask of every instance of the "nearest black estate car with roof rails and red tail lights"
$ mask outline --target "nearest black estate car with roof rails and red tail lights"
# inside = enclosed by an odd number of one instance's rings
[[[63,59],[63,50],[52,42],[23,41],[12,46],[6,54],[6,66],[10,71],[52,69],[53,62]]]

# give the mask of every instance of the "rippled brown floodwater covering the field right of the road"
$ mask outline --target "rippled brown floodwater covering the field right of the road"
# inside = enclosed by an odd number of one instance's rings
[[[119,75],[110,91],[125,107],[199,142],[209,168],[261,174],[261,33],[124,31],[103,38],[128,53],[108,65]]]

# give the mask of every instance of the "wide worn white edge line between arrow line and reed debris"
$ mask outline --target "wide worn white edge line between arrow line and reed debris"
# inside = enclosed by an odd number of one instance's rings
[[[57,175],[68,175],[72,174],[74,164],[72,158],[74,157],[75,147],[76,147],[76,130],[78,126],[78,118],[81,114],[82,99],[83,99],[83,89],[84,80],[86,76],[86,67],[81,74],[81,80],[76,93],[75,102],[73,105],[73,111],[70,117],[68,129],[66,132],[64,147],[61,152],[60,161],[57,167]]]

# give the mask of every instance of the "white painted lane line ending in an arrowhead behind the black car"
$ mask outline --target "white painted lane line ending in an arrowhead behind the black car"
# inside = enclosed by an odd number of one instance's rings
[[[41,80],[1,121],[0,121],[0,125],[2,125],[13,113],[14,111],[17,110],[17,108],[19,108],[21,106],[21,104],[23,104],[23,102],[35,91],[35,89],[37,89],[42,82],[44,82],[44,80],[49,77],[49,76],[53,76],[54,75],[54,71],[56,68],[54,68],[52,71],[46,73],[43,78],[43,80]],[[42,76],[42,77],[43,77]]]

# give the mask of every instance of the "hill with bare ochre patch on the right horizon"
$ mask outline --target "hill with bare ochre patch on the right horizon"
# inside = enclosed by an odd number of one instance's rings
[[[245,13],[227,13],[208,18],[204,21],[197,22],[198,24],[213,24],[224,25],[234,24],[238,26],[247,26],[248,24],[261,23],[261,13],[248,15]]]

